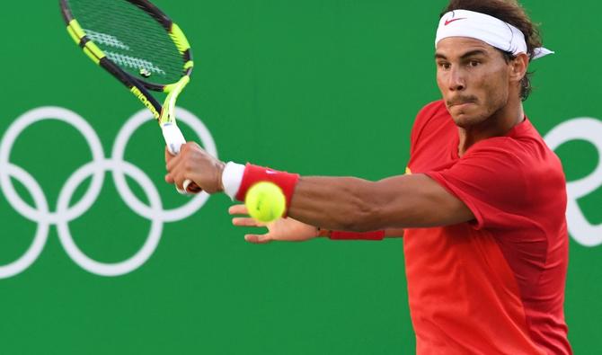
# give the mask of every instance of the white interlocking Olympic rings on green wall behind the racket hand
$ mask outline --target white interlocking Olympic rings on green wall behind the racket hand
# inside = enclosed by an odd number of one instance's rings
[[[181,122],[186,123],[194,130],[208,153],[217,156],[215,142],[205,125],[190,111],[177,108],[176,114]],[[84,136],[92,153],[92,161],[77,169],[63,185],[54,212],[50,210],[46,195],[33,176],[20,166],[10,163],[11,150],[16,139],[24,129],[42,120],[59,120],[73,126]],[[155,252],[161,239],[164,223],[180,221],[190,217],[205,204],[208,200],[208,194],[203,192],[180,208],[164,209],[159,192],[146,173],[137,166],[123,160],[129,138],[138,127],[148,120],[154,120],[154,118],[147,110],[138,111],[132,116],[120,129],[109,158],[104,156],[101,140],[94,129],[86,120],[73,111],[60,107],[40,107],[25,112],[13,122],[0,140],[0,190],[13,209],[22,217],[37,223],[38,226],[29,249],[16,261],[0,266],[0,279],[15,276],[29,268],[36,261],[46,244],[50,226],[57,226],[58,239],[66,253],[84,270],[102,276],[120,276],[135,271]],[[104,183],[105,172],[109,171],[112,173],[113,182],[117,187],[121,200],[138,216],[151,222],[146,242],[137,253],[123,262],[115,263],[98,262],[83,253],[75,244],[69,230],[69,222],[81,217],[98,199]],[[148,205],[138,200],[136,195],[129,189],[126,175],[142,188],[149,201]],[[81,200],[72,204],[76,189],[88,177],[92,177],[88,190],[85,191]],[[22,200],[14,190],[11,178],[21,182],[29,191],[34,206],[30,206]]]

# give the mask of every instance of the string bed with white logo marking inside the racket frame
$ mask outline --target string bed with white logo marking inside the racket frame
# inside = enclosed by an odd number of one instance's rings
[[[167,31],[150,14],[126,0],[68,0],[88,38],[129,75],[154,84],[173,84],[184,59]]]

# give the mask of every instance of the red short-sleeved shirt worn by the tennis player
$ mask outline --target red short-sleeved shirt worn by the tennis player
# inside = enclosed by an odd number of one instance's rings
[[[475,220],[406,230],[416,352],[571,354],[560,160],[527,119],[462,157],[458,144],[444,102],[424,107],[412,129],[408,168],[464,201]]]

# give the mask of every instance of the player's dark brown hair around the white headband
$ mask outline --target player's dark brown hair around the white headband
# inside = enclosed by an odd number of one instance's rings
[[[450,0],[447,7],[441,13],[444,14],[454,10],[468,10],[475,13],[485,13],[493,16],[503,22],[508,22],[518,30],[522,31],[527,41],[527,55],[529,60],[535,56],[535,49],[542,47],[542,39],[537,29],[537,25],[531,22],[531,19],[525,13],[525,9],[518,4],[517,0]],[[511,52],[499,49],[506,62],[516,58]],[[531,75],[527,72],[520,81],[520,99],[527,100],[529,93],[533,89],[531,86]]]

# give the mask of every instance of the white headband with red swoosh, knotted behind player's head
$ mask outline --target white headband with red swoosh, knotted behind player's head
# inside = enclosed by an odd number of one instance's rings
[[[444,14],[439,21],[435,46],[437,47],[439,40],[447,39],[447,37],[468,37],[482,40],[515,56],[518,53],[527,53],[527,43],[522,31],[484,13],[456,10]],[[553,51],[543,47],[537,48],[533,59],[542,58],[548,54],[553,54]]]

